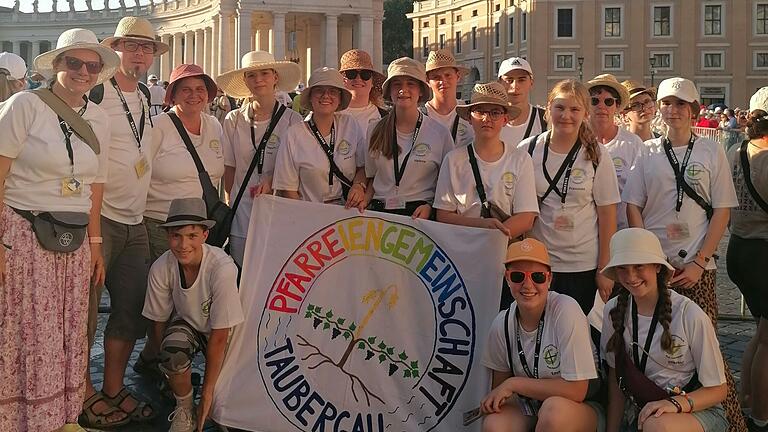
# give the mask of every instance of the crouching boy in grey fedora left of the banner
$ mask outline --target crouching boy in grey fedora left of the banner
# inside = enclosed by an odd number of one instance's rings
[[[221,248],[205,244],[214,224],[202,199],[173,200],[160,225],[168,232],[170,249],[149,272],[142,313],[162,340],[158,361],[176,397],[171,432],[202,430],[230,332],[244,320],[235,262]],[[205,353],[205,380],[196,414],[191,365],[198,352]]]

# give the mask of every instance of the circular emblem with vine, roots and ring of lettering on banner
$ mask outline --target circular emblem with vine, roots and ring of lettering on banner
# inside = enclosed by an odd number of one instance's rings
[[[267,394],[299,430],[421,432],[464,389],[475,315],[458,269],[425,233],[356,216],[287,259],[257,337]]]

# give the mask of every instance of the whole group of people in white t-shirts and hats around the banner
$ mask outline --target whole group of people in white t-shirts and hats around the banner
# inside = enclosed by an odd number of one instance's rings
[[[752,265],[768,255],[768,88],[750,101],[750,139],[726,155],[693,133],[699,94],[684,78],[658,89],[608,74],[564,80],[537,107],[534,72],[514,57],[459,104],[468,69],[450,52],[400,58],[383,74],[353,49],[338,69],[312,72],[302,117],[277,98],[296,88],[299,66],[263,51],[215,79],[180,65],[160,99],[140,79],[167,50],[143,18],[123,18],[101,42],[68,30],[35,58],[50,79],[35,92],[19,92],[21,68],[0,56],[0,95],[15,93],[0,104],[1,430],[153,420],[157,408],[124,383],[145,336],[134,369],[168,379],[172,431],[202,430],[243,320],[237,270],[248,227],[261,223],[251,207],[273,193],[509,237],[483,355],[485,430],[743,431],[742,407],[750,430],[768,430],[768,304]],[[220,120],[207,109],[223,95],[246,103]],[[208,184],[230,198],[228,253],[205,244]],[[728,272],[759,318],[740,397],[715,334],[729,224]],[[96,390],[87,366],[103,288]],[[561,360],[539,375],[543,342]]]

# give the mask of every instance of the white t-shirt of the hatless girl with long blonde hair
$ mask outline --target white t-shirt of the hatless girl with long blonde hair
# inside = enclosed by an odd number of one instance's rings
[[[546,135],[541,135],[533,152],[533,171],[536,177],[536,194],[541,197],[547,191],[549,182],[544,177],[542,161]],[[520,143],[519,148],[528,150],[531,137]],[[540,214],[533,224],[532,237],[547,245],[552,271],[582,272],[597,268],[598,226],[597,206],[617,204],[621,201],[616,171],[613,169],[611,156],[603,146],[600,149],[600,163],[595,170],[592,161],[586,159],[584,146],[579,150],[576,162],[571,170],[568,193],[565,204],[552,191],[540,205]],[[560,154],[549,149],[547,172],[554,178],[567,154]],[[563,190],[565,174],[558,182],[558,189]],[[570,219],[571,228],[558,229],[556,219]]]

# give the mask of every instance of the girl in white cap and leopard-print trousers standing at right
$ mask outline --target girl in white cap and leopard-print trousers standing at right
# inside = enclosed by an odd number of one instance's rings
[[[659,238],[677,269],[669,283],[717,323],[714,254],[732,207],[738,205],[723,147],[693,134],[699,92],[685,78],[659,84],[659,111],[666,136],[645,142],[622,198],[633,227]],[[725,407],[731,431],[745,430],[730,371]]]

